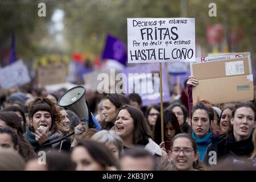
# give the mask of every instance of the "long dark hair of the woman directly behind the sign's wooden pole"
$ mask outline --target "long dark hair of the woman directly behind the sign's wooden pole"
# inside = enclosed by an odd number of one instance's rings
[[[175,135],[181,133],[179,121],[177,120],[176,115],[171,110],[164,110],[163,111],[163,122],[164,122],[164,129],[168,122],[172,124],[175,129]],[[154,140],[155,143],[160,144],[162,142],[162,135],[161,135],[161,116],[158,115],[155,122],[155,130],[154,130]],[[164,140],[166,140],[166,136],[164,135]]]

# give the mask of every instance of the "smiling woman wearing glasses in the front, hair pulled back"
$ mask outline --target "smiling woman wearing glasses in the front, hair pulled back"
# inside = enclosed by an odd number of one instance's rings
[[[171,142],[172,150],[169,153],[174,169],[178,171],[205,170],[206,167],[199,161],[197,144],[191,135],[181,133],[175,135]]]

